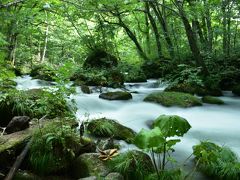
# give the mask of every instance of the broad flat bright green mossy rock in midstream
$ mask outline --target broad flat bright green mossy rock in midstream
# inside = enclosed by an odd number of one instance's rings
[[[181,92],[156,92],[145,97],[146,102],[155,102],[163,106],[192,107],[201,106],[201,100],[197,97]]]

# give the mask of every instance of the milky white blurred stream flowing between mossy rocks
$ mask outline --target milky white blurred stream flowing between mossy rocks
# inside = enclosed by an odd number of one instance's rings
[[[33,80],[29,76],[19,77],[16,82],[18,89],[51,85],[44,81]],[[77,104],[77,118],[80,121],[100,117],[115,119],[139,132],[142,128],[149,128],[151,122],[159,115],[179,115],[186,118],[192,128],[175,146],[176,151],[173,156],[178,162],[183,163],[191,155],[192,146],[203,140],[228,146],[240,156],[240,97],[234,96],[231,92],[224,92],[224,96],[220,97],[225,102],[224,105],[203,104],[203,106],[192,108],[164,107],[143,102],[144,97],[149,93],[164,90],[164,84],[158,84],[156,80],[148,80],[146,83],[126,83],[125,87],[134,92],[132,100],[103,100],[98,97],[98,92],[83,94],[77,88],[77,94],[70,96]],[[134,148],[133,145],[123,144],[123,149],[131,148]],[[193,166],[191,159],[186,165],[188,168]],[[197,174],[196,179],[203,178],[201,174]]]

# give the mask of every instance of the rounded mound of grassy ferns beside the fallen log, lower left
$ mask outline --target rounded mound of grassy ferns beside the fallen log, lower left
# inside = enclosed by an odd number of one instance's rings
[[[75,157],[79,136],[66,122],[48,123],[33,135],[30,147],[30,167],[35,173],[46,175],[66,168]]]

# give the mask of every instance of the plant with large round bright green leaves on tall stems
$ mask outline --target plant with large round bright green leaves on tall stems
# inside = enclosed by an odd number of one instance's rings
[[[173,162],[168,152],[173,151],[173,146],[180,142],[180,139],[169,139],[169,137],[183,136],[191,126],[186,119],[179,116],[161,115],[154,121],[153,127],[152,130],[142,129],[135,137],[134,144],[151,153],[158,179],[165,176],[166,179],[171,179],[173,174],[165,171],[168,161]],[[157,161],[155,153],[158,154]],[[161,153],[162,158],[159,155]],[[169,157],[167,157],[168,155]],[[173,177],[177,178],[175,175]]]

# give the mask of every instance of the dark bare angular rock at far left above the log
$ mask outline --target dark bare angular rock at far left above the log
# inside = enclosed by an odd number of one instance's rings
[[[29,128],[30,117],[28,116],[15,116],[7,125],[6,133],[21,131]]]

